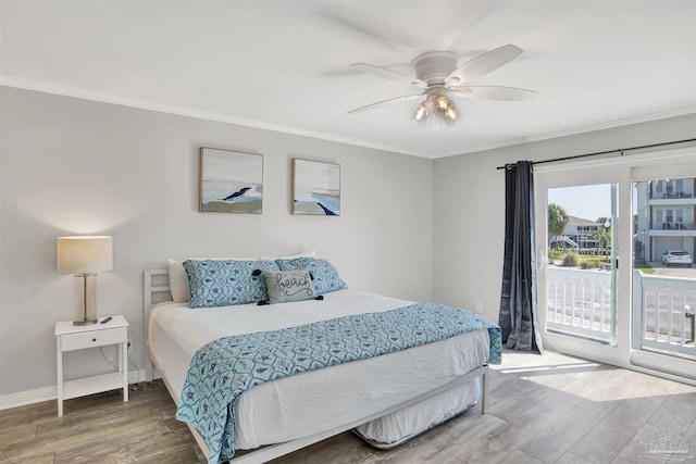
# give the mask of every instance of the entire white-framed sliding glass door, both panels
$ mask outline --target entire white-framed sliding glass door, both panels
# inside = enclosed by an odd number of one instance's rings
[[[535,166],[545,346],[696,378],[695,156]]]

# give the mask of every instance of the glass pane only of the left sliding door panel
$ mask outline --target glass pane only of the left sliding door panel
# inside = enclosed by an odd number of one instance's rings
[[[616,183],[547,189],[549,333],[617,344],[616,198]]]

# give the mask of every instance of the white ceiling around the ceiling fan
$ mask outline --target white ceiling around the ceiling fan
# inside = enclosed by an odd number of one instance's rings
[[[696,1],[2,1],[1,83],[426,158],[696,112]],[[350,67],[412,74],[524,52],[472,84],[533,101],[457,99],[415,126],[414,93]],[[418,89],[415,89],[418,90]]]

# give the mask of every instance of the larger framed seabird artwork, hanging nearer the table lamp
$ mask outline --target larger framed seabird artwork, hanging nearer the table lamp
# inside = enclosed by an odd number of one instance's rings
[[[263,155],[200,149],[201,212],[261,214]]]

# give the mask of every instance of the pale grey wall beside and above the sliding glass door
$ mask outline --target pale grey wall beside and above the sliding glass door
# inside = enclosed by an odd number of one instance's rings
[[[505,240],[505,171],[519,160],[691,139],[696,115],[626,125],[435,160],[433,168],[433,298],[498,321]]]

